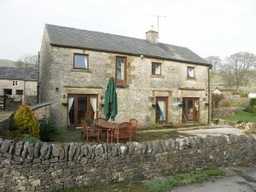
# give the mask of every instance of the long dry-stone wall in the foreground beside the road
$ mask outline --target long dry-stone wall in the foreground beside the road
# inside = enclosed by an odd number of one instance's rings
[[[255,162],[256,138],[189,137],[147,143],[23,143],[0,139],[0,191],[50,191]]]

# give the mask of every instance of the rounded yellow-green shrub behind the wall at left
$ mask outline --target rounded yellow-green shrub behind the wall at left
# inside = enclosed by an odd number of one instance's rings
[[[29,134],[32,137],[39,137],[39,122],[32,112],[31,108],[26,105],[21,105],[15,112],[14,117],[15,130],[20,131],[20,134]]]

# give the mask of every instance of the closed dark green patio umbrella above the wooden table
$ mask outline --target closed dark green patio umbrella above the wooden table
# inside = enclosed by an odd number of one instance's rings
[[[118,113],[117,106],[117,95],[115,91],[115,84],[113,77],[108,80],[108,87],[105,92],[105,101],[104,101],[104,114],[106,119],[111,118],[114,121],[115,116]]]

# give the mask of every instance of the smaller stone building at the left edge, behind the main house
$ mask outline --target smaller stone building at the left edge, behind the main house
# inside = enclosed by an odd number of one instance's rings
[[[0,67],[0,96],[37,102],[38,68]]]

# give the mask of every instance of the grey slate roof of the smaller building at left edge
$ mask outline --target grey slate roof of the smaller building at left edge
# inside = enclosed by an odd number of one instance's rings
[[[38,80],[38,68],[0,67],[0,79]]]

